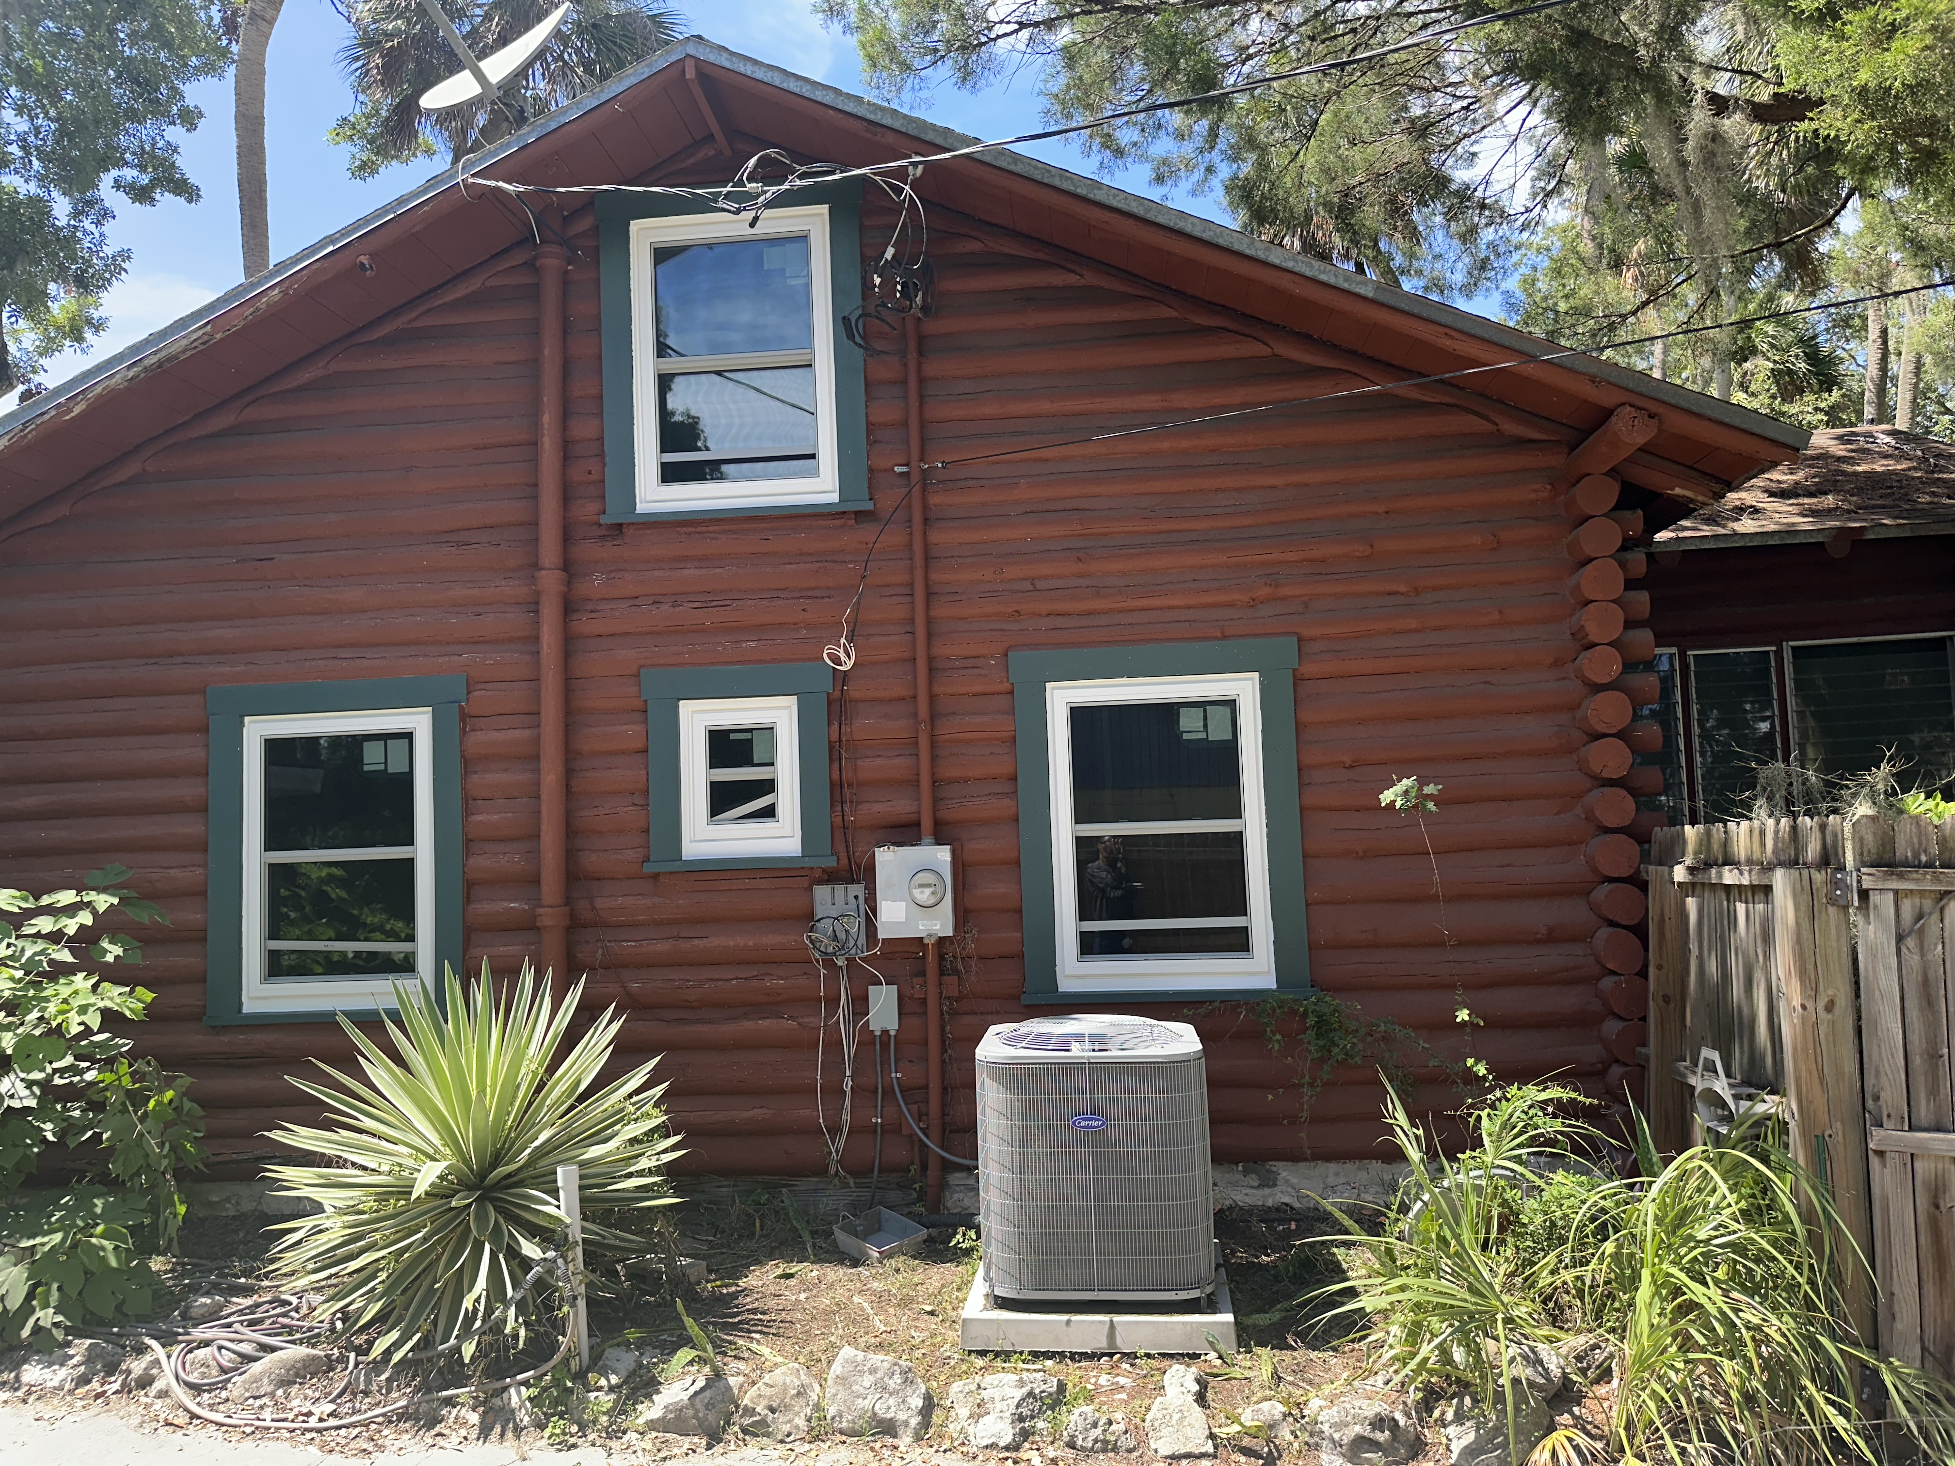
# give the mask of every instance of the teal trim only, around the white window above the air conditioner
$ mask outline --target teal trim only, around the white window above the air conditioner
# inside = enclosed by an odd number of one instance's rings
[[[1013,651],[1007,659],[1019,739],[1019,887],[1028,1005],[1216,1003],[1310,991],[1304,913],[1302,796],[1296,774],[1296,637],[1169,641],[1151,647]],[[1157,676],[1257,674],[1263,725],[1263,817],[1269,827],[1269,921],[1277,983],[1247,993],[1206,989],[1060,991],[1052,870],[1052,749],[1046,688]]]

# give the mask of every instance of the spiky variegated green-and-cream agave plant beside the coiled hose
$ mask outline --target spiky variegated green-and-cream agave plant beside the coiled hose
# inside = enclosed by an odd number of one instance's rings
[[[516,1294],[563,1231],[559,1165],[579,1167],[586,1251],[645,1251],[620,1224],[674,1200],[665,1085],[647,1087],[657,1059],[586,1093],[622,1018],[606,1009],[559,1061],[583,983],[551,1003],[526,964],[497,993],[483,964],[467,993],[454,971],[444,985],[446,1005],[399,989],[399,1022],[385,1022],[395,1056],[340,1018],[366,1083],[323,1063],[344,1093],[291,1083],[342,1126],[270,1136],[330,1161],[268,1171],[278,1194],[325,1208],[280,1224],[289,1235],[274,1267],[293,1290],[323,1296],[321,1317],[342,1337],[377,1327],[375,1358],[456,1339],[473,1351],[473,1335],[504,1314],[520,1329],[542,1312]]]

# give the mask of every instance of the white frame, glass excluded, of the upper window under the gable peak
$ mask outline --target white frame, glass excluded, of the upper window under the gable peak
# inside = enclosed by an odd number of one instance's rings
[[[815,367],[815,463],[809,479],[737,479],[729,483],[665,485],[659,473],[659,303],[653,250],[661,244],[735,244],[753,238],[807,237],[807,291],[813,324],[809,352],[741,352],[737,356],[673,358],[667,373]],[[807,358],[807,360],[804,360]],[[835,305],[829,270],[829,205],[768,209],[757,223],[712,215],[663,215],[631,221],[631,401],[637,444],[639,512],[766,508],[772,504],[833,504],[841,498],[835,455]]]

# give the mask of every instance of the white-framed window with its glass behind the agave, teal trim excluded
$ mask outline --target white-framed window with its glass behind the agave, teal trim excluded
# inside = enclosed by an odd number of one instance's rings
[[[244,1013],[434,977],[432,711],[244,719]]]

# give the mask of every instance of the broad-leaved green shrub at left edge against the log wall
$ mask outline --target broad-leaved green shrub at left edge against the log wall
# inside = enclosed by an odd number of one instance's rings
[[[149,1310],[141,1247],[176,1241],[180,1173],[203,1163],[203,1112],[182,1075],[131,1059],[108,1018],[143,1018],[151,993],[82,971],[76,950],[109,911],[162,921],[125,889],[121,866],[82,889],[0,889],[0,1343],[51,1347],[68,1325]],[[96,964],[141,962],[141,944],[104,932]],[[74,1151],[88,1175],[27,1186],[49,1147]]]

